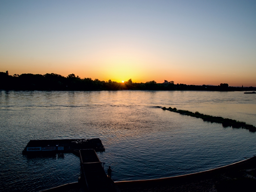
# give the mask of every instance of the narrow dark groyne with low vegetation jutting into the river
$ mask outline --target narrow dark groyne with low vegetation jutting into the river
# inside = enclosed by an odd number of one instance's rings
[[[187,116],[192,116],[192,117],[196,117],[196,118],[201,118],[204,121],[208,121],[211,123],[221,123],[223,127],[242,128],[242,129],[248,129],[251,132],[256,132],[255,126],[253,126],[251,124],[246,124],[243,121],[236,121],[233,119],[223,118],[223,117],[219,117],[219,116],[204,115],[202,113],[199,113],[198,111],[193,113],[191,111],[180,110],[180,109],[178,110],[177,108],[171,108],[171,107],[169,107],[169,108],[163,107],[162,109],[172,111],[175,113],[180,113],[181,115],[187,115]]]

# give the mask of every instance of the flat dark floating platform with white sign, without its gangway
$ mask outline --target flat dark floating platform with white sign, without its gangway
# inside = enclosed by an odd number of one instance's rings
[[[24,155],[41,155],[52,153],[72,153],[80,149],[94,149],[96,152],[105,151],[99,138],[95,139],[56,139],[30,140],[22,153]]]

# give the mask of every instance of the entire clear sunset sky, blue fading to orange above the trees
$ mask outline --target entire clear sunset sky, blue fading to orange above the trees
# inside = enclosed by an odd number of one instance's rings
[[[0,0],[0,71],[256,87],[255,10],[255,0]]]

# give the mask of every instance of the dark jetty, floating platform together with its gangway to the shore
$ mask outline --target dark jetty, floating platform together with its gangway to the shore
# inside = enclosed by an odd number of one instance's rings
[[[96,139],[62,139],[62,140],[30,140],[23,149],[24,155],[49,155],[56,153],[74,153],[80,157],[82,174],[78,183],[44,190],[59,191],[60,188],[81,188],[84,192],[119,192],[115,182],[108,178],[104,163],[100,161],[96,151],[105,151],[99,138]]]

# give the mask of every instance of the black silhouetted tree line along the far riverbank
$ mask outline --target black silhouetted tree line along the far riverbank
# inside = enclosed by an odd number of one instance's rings
[[[256,87],[231,87],[228,84],[214,85],[186,85],[168,83],[156,83],[149,81],[147,83],[134,83],[132,79],[124,83],[117,83],[111,80],[100,81],[91,78],[80,78],[75,74],[67,77],[46,73],[40,74],[14,74],[9,75],[8,71],[0,72],[0,89],[4,90],[77,90],[77,91],[95,91],[95,90],[195,90],[195,91],[254,91]]]

